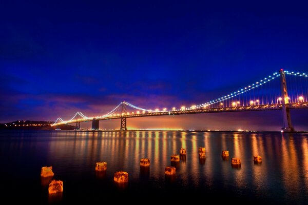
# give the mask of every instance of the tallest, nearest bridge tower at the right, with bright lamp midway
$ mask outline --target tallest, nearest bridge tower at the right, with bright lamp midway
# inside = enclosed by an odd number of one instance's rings
[[[293,132],[295,130],[294,127],[292,126],[290,109],[286,108],[286,105],[289,103],[289,98],[287,96],[285,73],[283,69],[280,69],[280,89],[282,97],[281,103],[282,103],[282,123],[283,123],[282,125],[283,127],[281,129],[286,132]]]

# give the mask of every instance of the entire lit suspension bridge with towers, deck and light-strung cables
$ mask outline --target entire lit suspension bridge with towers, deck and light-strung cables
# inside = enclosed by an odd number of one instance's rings
[[[120,129],[127,130],[126,121],[131,117],[282,110],[282,131],[294,131],[290,110],[308,108],[307,88],[308,74],[281,69],[251,85],[190,107],[145,109],[123,101],[107,114],[87,117],[81,112],[77,112],[69,120],[57,118],[52,126],[75,123],[76,128],[80,129],[81,122],[92,121],[92,130],[98,130],[100,120],[121,119]]]

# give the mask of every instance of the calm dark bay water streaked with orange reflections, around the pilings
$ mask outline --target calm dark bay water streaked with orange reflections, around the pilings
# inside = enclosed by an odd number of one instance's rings
[[[50,202],[169,199],[215,199],[238,203],[308,203],[308,135],[290,133],[229,132],[0,132],[2,197],[10,200]],[[176,179],[165,178],[170,155],[187,150]],[[199,161],[198,147],[206,147]],[[229,150],[229,160],[221,151]],[[263,162],[254,164],[253,155]],[[149,172],[139,160],[148,157]],[[240,169],[230,158],[239,157]],[[106,175],[95,173],[95,162],[106,161]],[[64,192],[48,196],[41,167],[53,166],[54,178]],[[129,173],[127,187],[113,183],[113,173]],[[11,197],[13,196],[13,197]]]

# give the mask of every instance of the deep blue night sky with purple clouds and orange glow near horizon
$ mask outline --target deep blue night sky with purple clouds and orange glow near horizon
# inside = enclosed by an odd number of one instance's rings
[[[308,72],[305,4],[2,1],[0,122],[191,106],[280,68]],[[308,130],[307,110],[292,111]],[[280,130],[280,111],[128,119],[128,128]],[[82,124],[90,127],[90,123]],[[120,120],[101,121],[120,128]]]

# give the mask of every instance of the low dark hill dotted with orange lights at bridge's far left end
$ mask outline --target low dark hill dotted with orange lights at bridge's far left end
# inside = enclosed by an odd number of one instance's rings
[[[55,130],[52,127],[53,121],[33,121],[33,120],[17,120],[0,124],[0,130]],[[75,127],[71,125],[62,125],[57,127],[61,130],[74,130]]]

